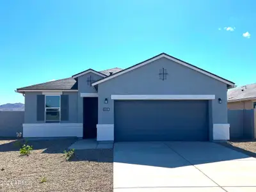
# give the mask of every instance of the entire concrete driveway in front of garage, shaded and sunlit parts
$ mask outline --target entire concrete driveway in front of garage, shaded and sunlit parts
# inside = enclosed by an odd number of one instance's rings
[[[256,191],[256,159],[211,142],[115,143],[114,191]]]

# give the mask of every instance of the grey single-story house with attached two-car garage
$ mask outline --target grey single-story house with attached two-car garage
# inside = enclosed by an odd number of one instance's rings
[[[111,72],[111,74],[109,73]],[[24,137],[227,140],[234,83],[162,53],[121,70],[85,70],[24,88]]]

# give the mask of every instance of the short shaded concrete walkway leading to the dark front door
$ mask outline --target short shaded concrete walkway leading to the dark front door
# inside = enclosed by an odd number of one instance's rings
[[[83,149],[102,149],[102,148],[113,148],[113,141],[106,141],[106,142],[98,142],[96,140],[78,140],[70,147],[74,148],[75,150],[83,150]]]

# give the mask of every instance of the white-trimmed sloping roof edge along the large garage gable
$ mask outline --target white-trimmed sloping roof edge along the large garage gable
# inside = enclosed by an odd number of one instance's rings
[[[132,67],[129,67],[129,68],[126,68],[124,70],[121,70],[120,72],[117,72],[116,74],[113,74],[112,76],[108,76],[108,77],[105,77],[104,79],[100,79],[99,81],[96,81],[94,83],[92,83],[93,86],[97,85],[97,84],[100,84],[100,83],[103,83],[104,81],[108,81],[109,79],[112,79],[114,77],[117,77],[117,76],[120,76],[122,74],[125,74],[131,70],[134,70],[138,67],[142,67],[143,65],[147,65],[148,63],[151,63],[152,61],[156,61],[156,60],[159,60],[160,58],[167,58],[168,60],[172,60],[172,61],[175,61],[176,63],[179,63],[180,65],[184,65],[186,67],[189,67],[193,70],[196,70],[198,72],[201,72],[202,74],[205,74],[206,76],[209,76],[209,77],[212,77],[214,79],[217,79],[218,81],[221,81],[223,83],[226,83],[228,85],[228,87],[233,87],[235,83],[233,83],[232,81],[228,81],[227,79],[224,79],[220,76],[216,76],[215,74],[212,74],[211,72],[207,72],[206,70],[202,69],[202,68],[199,68],[199,67],[196,67],[195,65],[191,65],[189,63],[186,63],[185,61],[182,61],[182,60],[179,60],[177,58],[174,58],[173,56],[170,56],[166,53],[161,53],[161,54],[158,54],[157,56],[154,56],[153,58],[150,58],[148,60],[145,60],[145,61],[142,61],[141,63],[138,63],[136,65],[133,65]]]

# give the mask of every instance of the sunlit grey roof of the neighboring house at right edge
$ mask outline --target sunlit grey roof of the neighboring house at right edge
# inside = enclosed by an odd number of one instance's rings
[[[246,84],[228,90],[228,102],[251,99],[256,99],[256,83]]]

